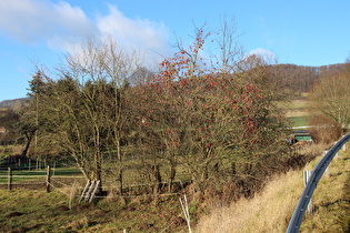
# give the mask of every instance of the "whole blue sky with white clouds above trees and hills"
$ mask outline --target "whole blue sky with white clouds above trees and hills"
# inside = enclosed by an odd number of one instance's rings
[[[0,0],[0,101],[24,98],[36,67],[53,69],[87,38],[113,36],[144,62],[196,27],[234,19],[247,53],[327,65],[350,57],[349,0]]]

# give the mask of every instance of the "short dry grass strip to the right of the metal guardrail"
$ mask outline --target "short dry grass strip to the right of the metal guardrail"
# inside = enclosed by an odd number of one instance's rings
[[[340,152],[331,162],[312,195],[314,213],[304,216],[301,232],[343,232],[348,226],[350,216],[346,211],[349,211],[349,200],[344,195],[350,190],[344,184],[350,176],[349,159],[349,152]]]

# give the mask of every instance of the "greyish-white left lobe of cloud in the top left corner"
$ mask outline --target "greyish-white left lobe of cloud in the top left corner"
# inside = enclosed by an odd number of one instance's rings
[[[99,33],[80,8],[46,0],[1,0],[0,31],[23,43],[54,49]]]

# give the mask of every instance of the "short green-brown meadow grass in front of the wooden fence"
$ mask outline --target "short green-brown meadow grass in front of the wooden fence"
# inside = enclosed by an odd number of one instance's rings
[[[0,232],[180,232],[186,229],[178,197],[106,197],[72,204],[60,191],[0,190]]]

